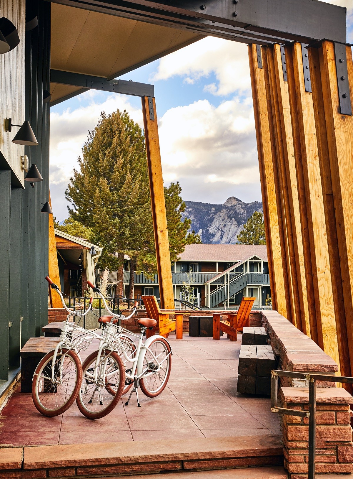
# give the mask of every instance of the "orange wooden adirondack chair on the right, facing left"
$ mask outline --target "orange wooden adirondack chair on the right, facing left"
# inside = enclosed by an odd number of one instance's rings
[[[225,314],[213,314],[213,339],[220,339],[220,331],[228,334],[231,341],[237,340],[238,331],[243,332],[244,327],[250,326],[250,311],[255,297],[243,297],[236,314],[228,314],[228,319],[221,320]]]

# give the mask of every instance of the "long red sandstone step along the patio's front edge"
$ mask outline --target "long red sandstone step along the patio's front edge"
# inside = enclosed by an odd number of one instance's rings
[[[238,436],[0,449],[0,478],[22,477],[22,473],[34,477],[34,471],[36,478],[185,474],[234,468],[248,471],[243,468],[283,465],[280,438]]]

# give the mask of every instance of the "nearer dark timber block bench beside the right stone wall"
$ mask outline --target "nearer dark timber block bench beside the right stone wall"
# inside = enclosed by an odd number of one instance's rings
[[[240,349],[237,392],[271,394],[271,370],[276,360],[270,344],[244,344]]]

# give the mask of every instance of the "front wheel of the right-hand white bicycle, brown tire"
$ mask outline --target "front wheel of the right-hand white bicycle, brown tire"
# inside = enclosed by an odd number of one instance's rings
[[[125,369],[119,354],[106,350],[98,363],[97,358],[98,351],[83,363],[82,385],[76,399],[78,409],[88,419],[109,414],[119,402],[125,384]]]

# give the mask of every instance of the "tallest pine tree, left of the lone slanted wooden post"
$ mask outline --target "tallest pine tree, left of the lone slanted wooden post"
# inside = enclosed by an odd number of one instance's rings
[[[103,247],[99,267],[118,270],[122,295],[124,253],[151,248],[152,214],[144,137],[126,111],[101,113],[78,158],[79,170],[66,190],[70,217],[90,228],[89,239]],[[115,253],[118,253],[116,255]]]

